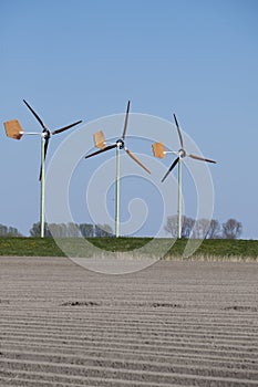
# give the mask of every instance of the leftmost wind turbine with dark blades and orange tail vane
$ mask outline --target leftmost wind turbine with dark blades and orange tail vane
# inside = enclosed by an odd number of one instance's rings
[[[31,111],[33,116],[37,118],[37,121],[42,126],[43,130],[42,133],[39,132],[24,132],[19,123],[18,119],[12,119],[9,122],[3,123],[6,133],[8,137],[14,138],[14,139],[21,139],[23,135],[38,135],[41,136],[41,167],[40,167],[40,176],[39,180],[41,182],[41,200],[40,200],[40,236],[41,238],[44,238],[44,161],[45,156],[48,151],[49,140],[52,135],[56,135],[59,133],[62,133],[64,130],[70,129],[71,127],[81,124],[82,121],[78,121],[73,124],[70,124],[68,126],[61,127],[60,129],[51,132],[43,123],[43,121],[40,118],[40,116],[33,111],[33,108],[23,100],[27,107]]]

